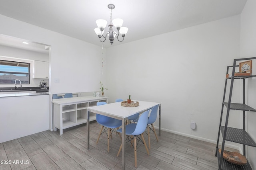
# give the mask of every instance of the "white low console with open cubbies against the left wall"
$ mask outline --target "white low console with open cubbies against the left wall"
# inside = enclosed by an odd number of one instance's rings
[[[108,97],[73,97],[53,99],[54,104],[54,131],[60,129],[60,135],[63,129],[86,123],[87,107],[96,106],[97,102],[107,102]],[[96,120],[96,115],[91,113],[90,121]]]

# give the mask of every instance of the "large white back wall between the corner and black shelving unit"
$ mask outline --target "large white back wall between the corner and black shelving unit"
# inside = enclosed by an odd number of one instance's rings
[[[106,96],[160,102],[163,130],[216,143],[226,68],[239,42],[233,16],[108,48]]]

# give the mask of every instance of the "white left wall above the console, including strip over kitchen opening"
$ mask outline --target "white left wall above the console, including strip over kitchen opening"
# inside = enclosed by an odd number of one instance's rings
[[[99,91],[100,80],[105,82],[101,47],[2,15],[0,23],[0,34],[51,46],[51,93]],[[55,78],[60,83],[54,83]]]

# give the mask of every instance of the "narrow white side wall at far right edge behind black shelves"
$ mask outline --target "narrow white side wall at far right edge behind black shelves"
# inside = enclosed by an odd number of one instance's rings
[[[248,0],[241,13],[241,57],[256,57],[256,1]],[[256,61],[253,61],[256,62]],[[252,68],[254,70],[256,68]],[[248,80],[248,105],[256,108],[256,79]],[[247,131],[254,141],[256,141],[256,114],[249,112],[246,114]],[[247,159],[252,166],[256,169],[256,148],[246,147]]]

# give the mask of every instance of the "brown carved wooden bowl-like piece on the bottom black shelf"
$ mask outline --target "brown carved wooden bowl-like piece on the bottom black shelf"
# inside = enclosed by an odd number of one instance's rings
[[[219,153],[221,153],[221,149],[219,149]],[[246,157],[238,152],[229,152],[227,150],[224,150],[223,158],[226,159],[228,162],[236,165],[244,165],[247,163]]]

